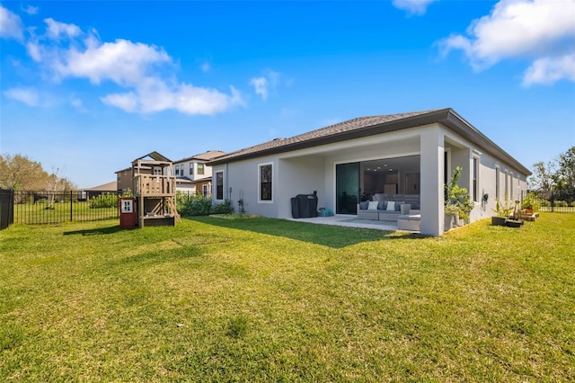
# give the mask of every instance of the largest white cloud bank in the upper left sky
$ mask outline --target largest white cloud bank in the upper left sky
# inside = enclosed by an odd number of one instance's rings
[[[102,42],[97,31],[84,32],[74,24],[50,18],[44,22],[45,34],[26,43],[31,58],[56,81],[75,77],[88,79],[93,85],[104,81],[119,85],[122,91],[100,98],[108,105],[128,112],[175,110],[187,114],[215,114],[244,105],[233,86],[226,94],[179,83],[173,73],[173,59],[162,48],[123,39]],[[71,103],[83,109],[80,100]]]

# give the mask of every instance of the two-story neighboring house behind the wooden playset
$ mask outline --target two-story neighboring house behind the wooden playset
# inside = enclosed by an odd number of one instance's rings
[[[225,154],[219,150],[210,150],[206,153],[174,161],[173,174],[176,176],[176,190],[184,193],[208,195],[211,191],[212,169],[207,163]]]

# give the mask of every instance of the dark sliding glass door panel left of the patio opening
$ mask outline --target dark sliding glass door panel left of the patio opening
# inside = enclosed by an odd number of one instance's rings
[[[359,163],[335,165],[335,211],[357,214],[359,197]]]

